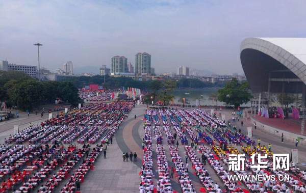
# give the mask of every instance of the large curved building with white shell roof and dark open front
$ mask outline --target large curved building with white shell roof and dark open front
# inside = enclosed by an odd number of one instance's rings
[[[300,93],[304,104],[306,38],[247,38],[240,50],[253,93]]]

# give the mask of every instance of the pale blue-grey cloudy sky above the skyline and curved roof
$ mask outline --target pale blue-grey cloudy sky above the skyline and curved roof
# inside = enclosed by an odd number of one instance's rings
[[[243,73],[240,43],[249,37],[305,37],[301,0],[0,0],[0,60],[51,70],[135,63],[151,54],[157,73]],[[98,73],[98,72],[96,72]]]

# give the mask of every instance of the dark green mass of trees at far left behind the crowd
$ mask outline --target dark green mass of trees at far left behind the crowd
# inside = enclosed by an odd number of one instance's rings
[[[39,104],[54,103],[57,98],[73,105],[81,102],[72,82],[39,82],[23,72],[0,71],[0,101],[6,101],[7,106],[32,110]]]

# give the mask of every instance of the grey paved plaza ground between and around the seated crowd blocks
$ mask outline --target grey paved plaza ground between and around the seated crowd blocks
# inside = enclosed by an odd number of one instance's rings
[[[132,109],[129,117],[123,122],[120,126],[120,129],[116,131],[115,136],[113,137],[113,144],[108,147],[107,158],[104,159],[103,156],[100,156],[95,162],[94,171],[90,171],[88,175],[85,177],[84,183],[81,184],[81,192],[138,192],[138,187],[140,183],[140,175],[141,166],[142,166],[142,156],[143,150],[141,147],[142,137],[144,136],[143,129],[143,116],[145,112],[146,105],[136,105],[135,108]],[[217,111],[219,114],[219,111]],[[226,111],[223,109],[221,112],[225,115],[225,117],[231,117],[231,111]],[[134,119],[134,115],[137,116]],[[46,119],[46,118],[44,118]],[[9,134],[13,134],[13,125],[18,124],[20,129],[26,128],[29,126],[29,123],[39,124],[44,119],[41,119],[40,116],[32,116],[29,118],[24,118],[20,120],[14,120],[14,122],[7,122],[6,124],[0,124],[0,143],[4,142],[4,138],[9,136]],[[241,120],[240,120],[241,122]],[[242,132],[246,134],[247,126],[251,125],[251,123],[243,119],[245,123],[243,127],[241,127],[240,122],[235,122],[238,128],[242,129]],[[172,128],[172,132],[174,130]],[[275,153],[290,153],[291,149],[295,149],[294,143],[285,141],[285,143],[281,142],[279,137],[276,137],[270,133],[266,133],[260,129],[256,129],[253,131],[254,140],[257,142],[258,138],[262,140],[263,145],[272,144],[272,151]],[[166,139],[166,135],[163,132],[164,139]],[[187,137],[190,141],[189,135]],[[153,139],[153,159],[154,159],[154,171],[157,170],[157,154],[156,154],[156,146],[154,140],[154,133],[152,133]],[[170,152],[169,146],[166,140],[163,140],[163,145],[166,151],[166,156],[170,167],[173,166],[170,160]],[[240,147],[237,147],[240,148]],[[306,162],[306,147],[299,146],[297,148],[299,150],[299,160],[301,163]],[[122,153],[123,152],[136,152],[138,155],[137,162],[123,162]],[[184,146],[179,145],[179,153],[182,157],[185,156]],[[197,155],[199,153],[196,151]],[[299,167],[303,168],[303,166],[299,163]],[[218,184],[222,184],[219,178],[215,175],[214,170],[207,165],[206,169],[209,174],[212,176],[213,180]],[[154,173],[157,176],[157,172]],[[195,186],[197,192],[199,192],[202,185],[198,180],[198,177],[194,175],[194,170],[189,164],[189,176],[193,181],[193,185]],[[156,181],[156,180],[155,180]],[[157,182],[157,181],[156,181]],[[177,182],[177,179],[174,178],[171,181],[172,187],[177,192],[181,192],[181,187]]]

